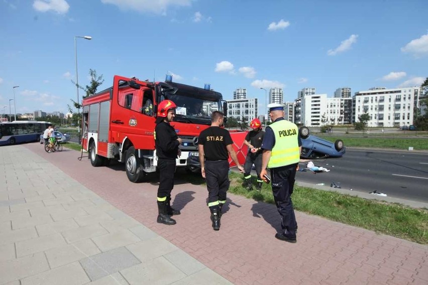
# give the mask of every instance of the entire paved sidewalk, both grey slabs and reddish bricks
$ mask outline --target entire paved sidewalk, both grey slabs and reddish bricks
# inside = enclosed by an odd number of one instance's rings
[[[7,205],[0,207],[0,283],[17,278],[37,283],[48,272],[54,278],[64,271],[73,276],[65,280],[78,284],[95,280],[89,278],[99,272],[109,273],[103,278],[112,283],[125,284],[428,283],[427,245],[300,212],[297,243],[282,242],[274,238],[279,226],[274,205],[233,194],[221,230],[213,231],[206,189],[199,185],[178,182],[173,204],[182,214],[174,226],[158,224],[155,181],[130,183],[123,166],[93,168],[87,159],[78,161],[79,155],[71,150],[47,154],[39,144],[0,148],[0,167],[11,180],[10,189],[0,190],[0,205]],[[49,189],[41,186],[47,182]],[[72,253],[61,255],[64,251]],[[180,262],[172,252],[191,261]],[[18,260],[27,269],[14,269]],[[204,265],[221,276],[198,267]],[[15,270],[26,275],[3,279]],[[79,283],[73,270],[87,279]],[[95,282],[108,284],[101,280]]]

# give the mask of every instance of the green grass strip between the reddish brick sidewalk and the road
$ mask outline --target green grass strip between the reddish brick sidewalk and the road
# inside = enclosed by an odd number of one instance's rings
[[[183,178],[192,184],[205,185],[204,180],[198,175],[186,175]],[[231,172],[229,178],[230,193],[274,204],[270,184],[263,183],[261,192],[254,190],[249,192],[242,187],[242,175]],[[400,204],[298,186],[294,187],[292,200],[297,211],[428,244],[428,209],[414,209]]]

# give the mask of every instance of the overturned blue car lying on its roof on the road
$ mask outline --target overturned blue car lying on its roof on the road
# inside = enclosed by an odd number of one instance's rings
[[[341,139],[337,139],[332,143],[331,141],[309,134],[309,129],[305,126],[299,128],[299,134],[302,140],[302,153],[300,157],[303,159],[340,158],[345,154],[346,148]]]

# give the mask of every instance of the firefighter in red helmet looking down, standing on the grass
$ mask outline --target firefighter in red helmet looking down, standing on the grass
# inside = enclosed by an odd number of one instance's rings
[[[251,181],[251,169],[253,164],[256,167],[257,173],[257,186],[256,190],[260,192],[262,189],[263,180],[260,177],[260,171],[262,170],[262,141],[265,132],[262,130],[262,123],[258,118],[251,121],[250,127],[253,129],[247,133],[244,140],[244,145],[248,147],[247,158],[244,164],[244,186],[248,191],[253,189],[253,183]]]

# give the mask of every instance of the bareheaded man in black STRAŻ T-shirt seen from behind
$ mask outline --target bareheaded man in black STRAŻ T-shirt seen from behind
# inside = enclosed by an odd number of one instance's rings
[[[222,208],[226,203],[229,190],[229,155],[242,173],[244,168],[239,164],[232,147],[233,141],[229,131],[221,126],[225,115],[219,111],[211,113],[211,126],[199,134],[199,161],[202,177],[206,179],[208,189],[208,207],[211,212],[212,228],[220,229]]]

